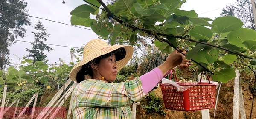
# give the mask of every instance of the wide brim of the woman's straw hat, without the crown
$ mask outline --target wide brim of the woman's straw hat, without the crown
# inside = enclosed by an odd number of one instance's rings
[[[118,51],[118,49],[123,48],[123,50]],[[116,52],[115,52],[116,51]],[[119,70],[121,70],[127,63],[128,61],[132,58],[133,55],[133,47],[131,47],[130,45],[114,45],[111,46],[111,50],[105,51],[105,52],[101,52],[99,54],[94,55],[94,57],[92,58],[85,58],[81,61],[79,61],[71,70],[69,78],[73,81],[76,81],[76,75],[77,73],[81,70],[81,67],[85,64],[87,64],[88,62],[92,61],[93,59],[114,52],[116,55],[116,69],[117,72]],[[125,55],[122,55],[122,53],[125,52]]]

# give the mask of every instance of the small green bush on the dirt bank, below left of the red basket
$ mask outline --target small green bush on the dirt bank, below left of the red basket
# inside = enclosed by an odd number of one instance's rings
[[[146,96],[147,103],[141,105],[145,109],[146,113],[158,113],[160,115],[166,115],[166,112],[163,108],[163,100],[160,97],[157,97],[154,92],[150,92]]]

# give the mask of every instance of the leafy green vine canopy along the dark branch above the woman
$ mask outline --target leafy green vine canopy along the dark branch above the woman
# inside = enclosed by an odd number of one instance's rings
[[[256,31],[242,28],[243,22],[233,16],[217,17],[216,19],[198,18],[198,14],[194,10],[180,10],[181,5],[185,2],[186,0],[117,0],[116,3],[107,6],[123,22],[150,30],[151,34],[127,28],[128,26],[110,19],[109,14],[105,11],[94,14],[91,5],[82,5],[87,8],[80,8],[81,6],[75,8],[70,13],[72,15],[71,23],[87,27],[91,25],[92,30],[103,38],[112,36],[111,44],[115,44],[120,39],[122,42],[137,44],[136,41],[142,37],[152,38],[154,45],[162,51],[161,53],[171,53],[172,47],[183,47],[189,50],[187,58],[194,59],[214,72],[213,80],[227,82],[234,78],[234,67],[236,66],[233,64],[243,57],[209,45],[188,42],[188,40],[206,42],[255,58]],[[97,10],[98,8],[95,9],[95,11]],[[86,14],[81,15],[79,12],[76,12],[79,14],[75,14],[74,11],[86,11]],[[88,16],[88,13],[95,17]],[[79,16],[80,18],[78,18]],[[93,19],[93,24],[91,22],[85,24],[84,20],[79,19]],[[165,34],[159,35],[160,41],[153,37],[157,33]],[[163,41],[168,41],[169,44]],[[159,66],[166,56],[160,53],[155,57],[148,55],[141,64],[141,74]],[[250,62],[256,64],[250,60],[244,60],[243,63],[249,64]],[[205,71],[201,66],[197,66],[199,72]],[[227,77],[224,77],[225,75]]]

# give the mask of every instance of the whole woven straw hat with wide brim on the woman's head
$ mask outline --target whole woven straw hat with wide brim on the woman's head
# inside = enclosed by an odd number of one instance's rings
[[[130,45],[108,45],[105,41],[99,40],[99,39],[94,39],[90,40],[85,46],[84,46],[84,51],[83,51],[83,59],[77,63],[73,69],[70,72],[69,78],[73,81],[76,81],[76,75],[77,73],[81,70],[81,67],[93,59],[108,54],[112,51],[115,51],[119,48],[125,49],[125,55],[124,58],[122,59],[116,59],[116,69],[117,72],[121,70],[131,59],[132,54],[133,54],[133,47]]]

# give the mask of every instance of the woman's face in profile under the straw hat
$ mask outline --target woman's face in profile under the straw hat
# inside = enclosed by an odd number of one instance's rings
[[[105,77],[105,80],[112,82],[116,80],[116,56],[113,54],[107,58],[102,58],[98,65],[99,73]]]

